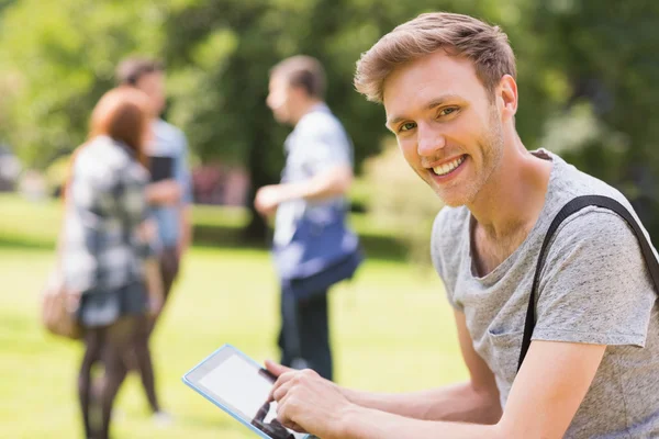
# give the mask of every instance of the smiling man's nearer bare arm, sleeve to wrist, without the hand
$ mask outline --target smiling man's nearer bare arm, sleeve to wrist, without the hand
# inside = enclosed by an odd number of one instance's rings
[[[606,347],[534,341],[494,426],[421,423],[356,407],[343,438],[547,438],[566,434],[595,376]]]

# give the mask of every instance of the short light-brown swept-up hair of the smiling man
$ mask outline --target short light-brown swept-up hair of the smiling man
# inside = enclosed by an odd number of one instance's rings
[[[443,49],[470,59],[491,93],[504,75],[516,76],[515,55],[499,27],[469,15],[424,13],[384,35],[357,61],[355,87],[369,101],[382,102],[387,77],[399,66]]]

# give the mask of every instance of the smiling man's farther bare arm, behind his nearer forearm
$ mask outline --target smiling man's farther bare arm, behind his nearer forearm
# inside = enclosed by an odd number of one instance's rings
[[[344,395],[358,406],[415,419],[496,424],[502,412],[494,375],[473,350],[465,314],[456,311],[455,318],[469,382],[398,395],[342,390]]]

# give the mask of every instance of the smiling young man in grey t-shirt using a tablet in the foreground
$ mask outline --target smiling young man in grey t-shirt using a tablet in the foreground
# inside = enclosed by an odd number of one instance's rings
[[[568,217],[539,280],[533,341],[516,373],[537,256],[578,195],[629,203],[515,131],[515,61],[476,19],[423,14],[360,59],[412,169],[447,204],[433,261],[455,308],[470,380],[425,392],[346,390],[268,363],[278,419],[333,438],[659,437],[659,318],[637,238],[608,210]]]

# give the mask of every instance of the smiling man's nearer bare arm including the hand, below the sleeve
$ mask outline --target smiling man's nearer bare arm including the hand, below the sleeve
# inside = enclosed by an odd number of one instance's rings
[[[559,439],[597,371],[606,346],[533,341],[495,425],[412,419],[350,403],[310,370],[287,372],[272,396],[278,419],[323,439]]]

